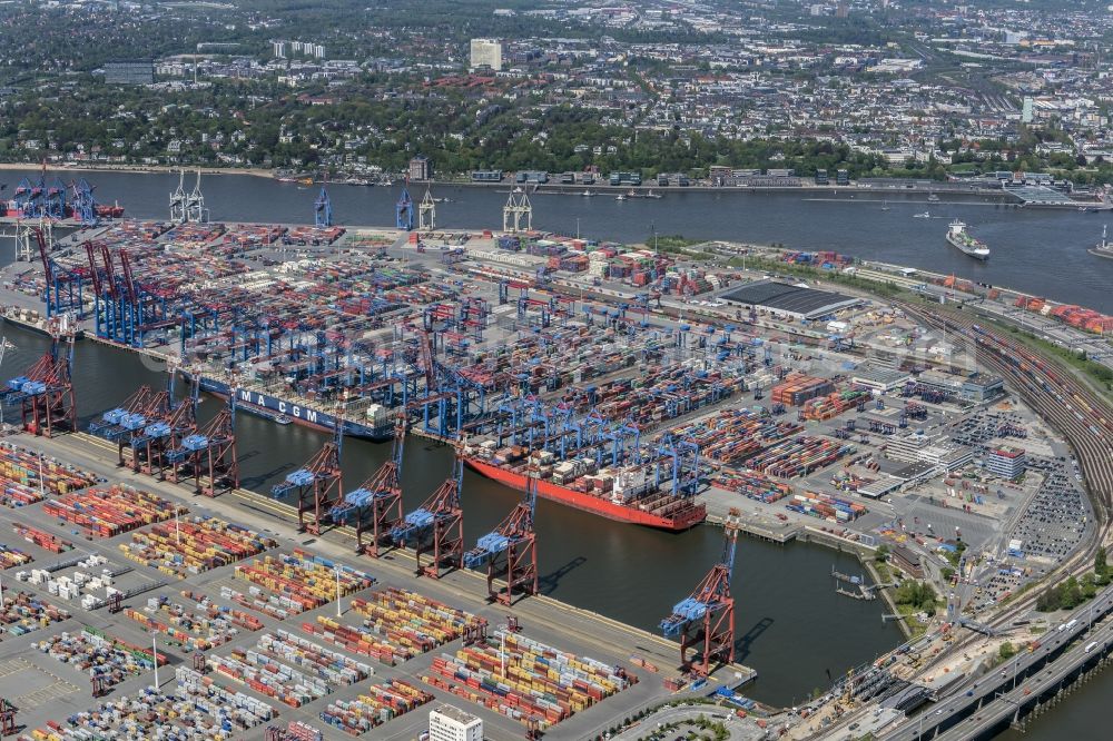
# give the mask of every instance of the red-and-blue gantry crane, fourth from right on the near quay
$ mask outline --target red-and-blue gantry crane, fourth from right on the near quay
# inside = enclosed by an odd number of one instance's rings
[[[394,542],[391,532],[402,522],[401,477],[405,439],[405,414],[400,414],[394,424],[390,461],[384,462],[358,488],[344,494],[328,511],[334,523],[351,523],[355,528],[356,553],[377,559],[385,553],[384,546]],[[365,534],[371,535],[368,542],[364,542]]]

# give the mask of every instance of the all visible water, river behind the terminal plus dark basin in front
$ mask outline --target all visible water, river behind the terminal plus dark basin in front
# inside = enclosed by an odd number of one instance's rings
[[[0,171],[11,188],[23,175]],[[63,172],[63,180],[82,174]],[[83,174],[102,202],[118,200],[130,216],[162,219],[170,174]],[[186,189],[193,184],[187,182]],[[250,176],[206,176],[206,202],[214,220],[312,221],[317,188],[279,184]],[[397,188],[329,188],[337,223],[393,224]],[[414,189],[415,199],[422,192]],[[501,225],[505,201],[494,188],[441,187],[450,202],[437,205],[443,228],[491,228]],[[810,196],[810,198],[808,197]],[[944,201],[946,196],[944,195]],[[884,202],[883,202],[884,201]],[[834,196],[824,192],[668,192],[661,200],[615,201],[612,196],[533,196],[534,226],[589,238],[643,240],[658,234],[721,238],[758,244],[782,243],[800,249],[833,249],[867,259],[955,271],[973,279],[1009,286],[1063,302],[1113,313],[1113,260],[1085,249],[1101,236],[1104,216],[1077,211],[1008,208],[988,202],[928,202],[923,194],[881,190]],[[932,218],[913,218],[930,210]],[[981,264],[949,248],[943,239],[947,221],[962,218],[994,249]],[[10,243],[0,245],[11,259]],[[18,347],[0,372],[17,375],[46,346],[45,338],[6,327]],[[7,376],[4,376],[7,377]],[[166,374],[149,362],[93,343],[79,343],[76,358],[79,412],[87,421],[115,406],[139,384],[161,386]],[[200,415],[219,407],[209,398]],[[269,491],[288,471],[306,461],[324,441],[319,433],[280,427],[242,414],[237,417],[244,486]],[[352,488],[390,455],[388,446],[345,441],[345,487]],[[420,504],[449,474],[445,448],[411,439],[403,467],[406,508]],[[516,502],[518,494],[465,473],[463,502],[469,541],[489,532]],[[656,630],[670,606],[686,596],[719,557],[721,531],[697,527],[679,535],[622,526],[556,504],[538,504],[538,543],[542,589],[546,594],[647,630]],[[757,699],[787,704],[826,686],[849,665],[874,659],[900,641],[899,630],[883,624],[880,603],[839,597],[831,565],[855,573],[857,563],[828,549],[806,544],[776,546],[742,539],[735,576],[738,660],[758,670],[749,692]],[[1103,679],[1107,684],[1109,681]],[[1094,695],[1090,685],[1080,700]],[[1100,693],[1099,693],[1100,694]],[[1072,703],[1074,709],[1074,703]],[[1095,708],[1097,705],[1094,705]],[[1080,704],[1078,710],[1082,710]],[[1056,721],[1061,720],[1054,715]],[[1042,719],[1040,724],[1050,724]],[[1034,732],[1038,732],[1034,729]],[[1052,737],[1047,737],[1052,738]],[[1055,738],[1060,738],[1057,734]]]

